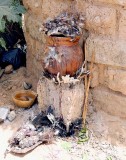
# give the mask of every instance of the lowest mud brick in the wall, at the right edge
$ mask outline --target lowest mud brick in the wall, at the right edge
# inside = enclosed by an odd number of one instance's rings
[[[93,105],[111,115],[126,118],[126,96],[107,87],[99,86],[92,90]]]

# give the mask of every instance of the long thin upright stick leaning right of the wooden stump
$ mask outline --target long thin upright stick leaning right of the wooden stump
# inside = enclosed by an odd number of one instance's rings
[[[85,94],[85,102],[84,102],[84,110],[83,110],[83,127],[85,126],[85,121],[86,121],[86,116],[87,116],[87,107],[88,107],[88,95],[89,95],[89,87],[90,87],[90,83],[91,83],[91,78],[92,78],[92,70],[93,70],[93,64],[94,64],[94,52],[92,53],[92,58],[91,58],[91,65],[90,65],[90,75],[89,75],[89,79],[87,82],[87,88],[86,88],[86,94]],[[86,83],[86,82],[85,82]]]

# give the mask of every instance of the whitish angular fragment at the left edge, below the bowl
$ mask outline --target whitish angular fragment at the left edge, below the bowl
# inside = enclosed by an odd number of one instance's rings
[[[9,108],[0,107],[0,122],[3,122],[7,118],[9,111]]]

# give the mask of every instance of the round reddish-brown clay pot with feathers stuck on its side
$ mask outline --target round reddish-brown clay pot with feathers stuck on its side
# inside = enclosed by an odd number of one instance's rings
[[[47,52],[44,70],[51,74],[71,75],[81,67],[84,57],[79,46],[80,37],[47,37]]]

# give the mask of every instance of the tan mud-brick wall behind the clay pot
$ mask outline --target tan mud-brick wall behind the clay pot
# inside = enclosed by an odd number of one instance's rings
[[[37,80],[46,43],[42,23],[62,11],[85,15],[86,59],[95,52],[91,83],[97,109],[126,118],[126,1],[125,0],[24,0],[27,69]],[[84,37],[83,37],[84,38]]]

